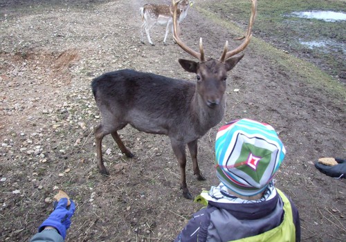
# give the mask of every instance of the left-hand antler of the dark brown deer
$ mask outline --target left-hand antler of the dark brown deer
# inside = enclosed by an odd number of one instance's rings
[[[203,62],[204,61],[204,54],[203,54],[203,45],[202,45],[202,40],[199,40],[199,51],[201,53],[198,53],[197,51],[192,50],[192,48],[186,46],[183,41],[181,41],[179,35],[178,35],[178,30],[177,30],[177,26],[178,23],[176,21],[176,11],[178,8],[178,3],[179,1],[174,1],[172,0],[172,5],[173,5],[173,38],[176,41],[176,44],[178,44],[183,50],[185,50],[185,52],[187,52],[188,54],[192,55],[193,57],[196,57],[197,59],[199,59],[199,61]]]

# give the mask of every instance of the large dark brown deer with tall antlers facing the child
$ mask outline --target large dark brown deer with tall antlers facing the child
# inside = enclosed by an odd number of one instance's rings
[[[117,132],[127,124],[139,131],[168,136],[179,163],[183,196],[191,199],[185,177],[185,146],[188,145],[190,150],[194,174],[198,180],[205,180],[197,162],[197,140],[224,118],[227,72],[244,56],[235,55],[249,44],[257,4],[252,0],[251,18],[242,44],[228,51],[226,41],[221,57],[208,60],[204,58],[201,39],[198,53],[183,44],[177,35],[176,4],[173,9],[174,39],[183,50],[199,59],[199,62],[179,59],[179,63],[185,71],[197,74],[197,83],[134,70],[104,73],[91,83],[95,102],[102,114],[102,122],[94,132],[98,169],[104,175],[109,175],[102,161],[104,136],[110,133],[120,151],[129,158],[134,155]]]

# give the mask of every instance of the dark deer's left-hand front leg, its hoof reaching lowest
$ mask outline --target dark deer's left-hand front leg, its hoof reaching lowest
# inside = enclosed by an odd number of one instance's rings
[[[186,153],[185,153],[185,144],[181,144],[180,142],[171,138],[171,145],[173,152],[178,159],[178,164],[180,167],[180,187],[183,189],[183,196],[188,199],[192,199],[192,195],[188,189],[188,184],[186,184]]]

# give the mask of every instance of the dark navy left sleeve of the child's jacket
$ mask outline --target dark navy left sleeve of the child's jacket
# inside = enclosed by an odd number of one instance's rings
[[[192,215],[174,242],[206,241],[208,231],[208,210],[206,208]]]

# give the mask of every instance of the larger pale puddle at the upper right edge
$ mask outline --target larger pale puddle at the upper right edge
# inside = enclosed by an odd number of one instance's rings
[[[320,19],[327,22],[345,21],[345,12],[334,11],[306,11],[306,12],[292,12],[291,15],[301,17],[304,19]]]

